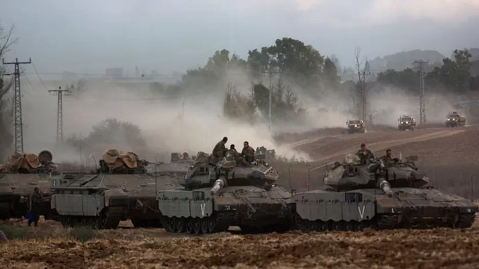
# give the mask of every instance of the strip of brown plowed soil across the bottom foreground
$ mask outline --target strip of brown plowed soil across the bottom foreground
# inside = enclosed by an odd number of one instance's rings
[[[477,268],[479,229],[10,241],[3,268]]]

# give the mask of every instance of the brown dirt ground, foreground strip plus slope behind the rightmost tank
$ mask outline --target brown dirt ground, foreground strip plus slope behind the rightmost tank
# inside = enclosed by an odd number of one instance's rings
[[[395,156],[418,155],[417,166],[434,185],[479,198],[478,137],[479,127],[361,134],[345,134],[340,128],[313,131],[285,136],[283,141],[306,151],[315,162],[271,163],[288,189],[314,190],[322,186],[321,166],[341,161],[366,143],[377,156],[387,148]],[[7,225],[17,229],[17,238],[34,239],[0,244],[1,268],[479,268],[479,221],[466,230],[269,235],[233,231],[203,237],[172,236],[162,229],[71,230],[51,221],[41,222],[39,228],[25,227],[25,221]],[[81,242],[92,237],[98,239]]]

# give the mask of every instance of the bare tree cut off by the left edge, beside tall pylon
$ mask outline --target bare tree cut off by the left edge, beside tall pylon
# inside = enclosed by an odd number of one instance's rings
[[[10,50],[10,46],[18,39],[13,38],[14,25],[7,31],[0,25],[0,60],[4,59],[5,53]],[[13,142],[12,119],[13,119],[13,98],[9,100],[8,93],[12,87],[13,78],[5,78],[5,68],[0,66],[0,157],[5,156]]]

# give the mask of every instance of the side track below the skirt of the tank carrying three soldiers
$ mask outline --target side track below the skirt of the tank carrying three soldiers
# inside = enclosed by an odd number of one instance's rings
[[[228,230],[229,225],[218,222],[216,216],[206,218],[160,217],[161,225],[169,233],[208,234]]]

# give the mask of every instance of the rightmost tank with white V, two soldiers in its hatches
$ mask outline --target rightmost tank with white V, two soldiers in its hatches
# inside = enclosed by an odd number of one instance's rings
[[[366,227],[468,228],[479,208],[463,197],[428,185],[414,164],[417,156],[361,166],[348,154],[324,177],[325,190],[294,196],[297,224],[303,231],[363,230]]]

